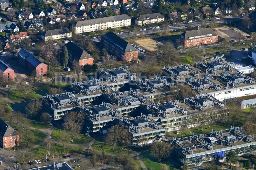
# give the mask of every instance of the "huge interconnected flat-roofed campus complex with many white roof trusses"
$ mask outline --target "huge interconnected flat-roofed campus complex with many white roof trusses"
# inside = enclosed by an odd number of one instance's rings
[[[159,102],[176,84],[188,84],[195,96]],[[254,88],[253,79],[218,59],[165,67],[162,76],[150,79],[129,67],[102,69],[91,80],[74,81],[69,92],[46,94],[42,100],[54,120],[72,110],[81,112],[88,133],[120,125],[129,129],[133,144],[142,144],[165,140],[168,131],[198,126],[200,117],[216,122],[228,114],[225,99],[255,94]]]

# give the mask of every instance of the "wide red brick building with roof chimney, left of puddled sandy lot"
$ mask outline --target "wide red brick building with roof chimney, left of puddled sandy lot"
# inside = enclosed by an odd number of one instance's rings
[[[197,30],[186,31],[180,35],[180,42],[184,47],[192,47],[212,44],[218,41],[218,34],[216,34],[211,28],[202,28],[199,26]]]

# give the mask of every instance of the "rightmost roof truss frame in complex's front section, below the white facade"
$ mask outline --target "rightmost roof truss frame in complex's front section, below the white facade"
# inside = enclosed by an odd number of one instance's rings
[[[208,98],[209,100],[212,101],[212,103],[200,104],[196,101],[196,99],[200,99],[200,98]],[[219,101],[207,93],[203,96],[195,96],[195,97],[187,96],[187,98],[184,99],[184,103],[186,102],[193,104],[195,106],[195,110],[204,110],[204,111],[207,107],[223,107],[226,104],[226,101]]]

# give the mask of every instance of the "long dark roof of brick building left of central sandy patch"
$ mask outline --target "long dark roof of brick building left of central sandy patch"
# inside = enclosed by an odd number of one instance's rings
[[[121,48],[123,48],[124,52],[129,52],[130,49],[131,49],[131,51],[137,51],[137,49],[135,49],[132,45],[130,45],[130,43],[123,40],[122,38],[120,38],[118,35],[116,35],[115,33],[111,32],[111,31],[107,32],[102,37],[106,37],[109,40],[113,41],[113,43],[116,43],[117,45],[119,45]]]

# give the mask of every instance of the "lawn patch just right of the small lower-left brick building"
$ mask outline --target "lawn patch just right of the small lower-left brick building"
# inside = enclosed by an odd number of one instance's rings
[[[33,141],[30,141],[27,145],[27,142],[25,141],[25,139],[22,140],[22,147],[26,147],[26,148],[31,148],[39,143],[41,143],[42,141],[45,140],[46,138],[46,134],[44,132],[41,132],[39,130],[35,130],[35,129],[30,129],[33,133],[34,139]]]

